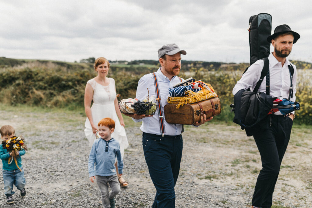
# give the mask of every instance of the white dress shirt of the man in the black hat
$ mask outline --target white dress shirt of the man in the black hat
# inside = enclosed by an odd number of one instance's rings
[[[279,97],[279,99],[287,98],[289,96],[290,88],[290,73],[288,65],[291,63],[286,58],[284,65],[282,62],[279,62],[271,53],[269,55],[269,70],[270,70],[270,95],[272,97]],[[264,65],[262,59],[257,60],[254,64],[249,66],[249,69],[245,74],[242,75],[241,79],[237,81],[236,85],[233,88],[233,95],[235,95],[241,89],[248,89],[252,91],[257,82],[260,80],[261,71]],[[296,100],[296,80],[297,80],[297,69],[296,66],[291,64],[294,67],[294,74],[292,79],[293,84],[293,97],[290,98],[291,101],[295,102]],[[259,92],[266,92],[266,76],[263,78],[263,81],[259,87]],[[294,114],[295,111],[292,113]],[[275,115],[281,115],[278,111]]]

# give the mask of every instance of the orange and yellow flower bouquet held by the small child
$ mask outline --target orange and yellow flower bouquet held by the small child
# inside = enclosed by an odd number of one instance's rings
[[[18,165],[17,165],[17,157],[19,155],[20,150],[27,150],[26,146],[25,146],[25,140],[23,138],[20,137],[16,137],[13,136],[11,138],[9,138],[7,141],[2,141],[2,147],[3,149],[6,149],[8,152],[12,152],[11,157],[9,157],[9,164],[12,163],[12,161],[14,160],[17,168],[22,171]]]

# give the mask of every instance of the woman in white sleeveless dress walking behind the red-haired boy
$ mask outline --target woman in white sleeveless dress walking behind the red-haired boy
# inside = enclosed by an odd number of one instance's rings
[[[103,57],[95,60],[94,69],[97,76],[89,80],[85,86],[85,136],[89,140],[89,145],[92,147],[96,139],[98,131],[97,124],[103,118],[109,117],[115,121],[115,130],[112,133],[112,138],[115,138],[120,144],[121,156],[124,157],[124,149],[128,147],[128,139],[124,130],[124,119],[118,107],[116,97],[115,80],[106,77],[110,69],[110,63]],[[92,107],[91,101],[93,100]],[[119,120],[120,122],[119,122]],[[117,161],[115,162],[116,173],[122,187],[128,186],[128,182],[123,177],[119,176]]]

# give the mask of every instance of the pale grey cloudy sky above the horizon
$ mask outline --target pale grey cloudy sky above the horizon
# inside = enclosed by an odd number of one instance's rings
[[[272,15],[301,38],[290,59],[312,62],[310,0],[0,0],[0,56],[79,61],[157,60],[177,43],[184,60],[249,62],[249,17]]]

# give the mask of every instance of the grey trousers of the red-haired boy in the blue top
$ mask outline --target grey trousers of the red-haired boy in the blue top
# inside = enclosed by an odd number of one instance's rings
[[[113,176],[95,176],[96,183],[99,186],[102,204],[104,208],[110,208],[110,199],[114,198],[120,192],[120,184],[117,175]],[[110,184],[111,191],[108,191],[108,184]]]

